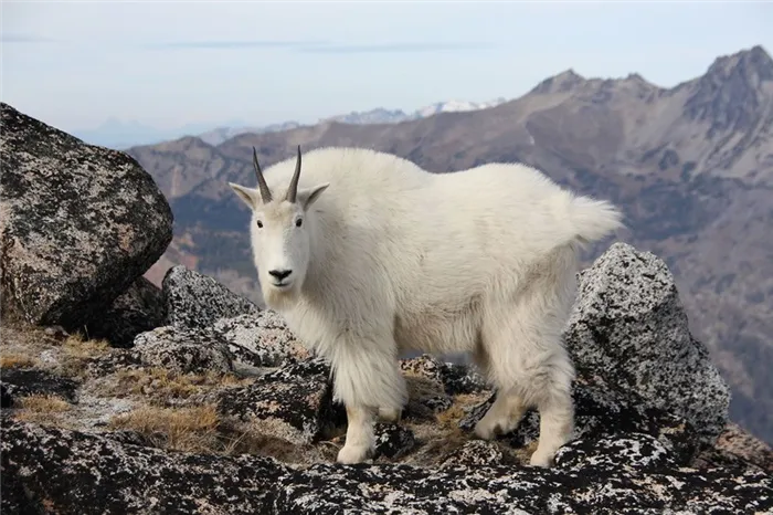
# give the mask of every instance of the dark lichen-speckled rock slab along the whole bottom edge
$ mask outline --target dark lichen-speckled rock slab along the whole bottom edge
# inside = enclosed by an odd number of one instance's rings
[[[2,513],[767,513],[773,479],[674,466],[652,439],[576,441],[552,469],[165,452],[0,418]],[[3,504],[4,503],[4,504]]]

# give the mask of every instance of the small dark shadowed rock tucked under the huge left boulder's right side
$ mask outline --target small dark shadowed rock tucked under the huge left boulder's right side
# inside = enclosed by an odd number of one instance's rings
[[[114,347],[131,347],[135,337],[165,325],[161,290],[139,277],[105,313],[88,324],[92,338],[104,338]]]

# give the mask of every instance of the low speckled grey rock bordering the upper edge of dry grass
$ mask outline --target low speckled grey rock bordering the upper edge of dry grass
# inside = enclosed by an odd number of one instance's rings
[[[142,364],[178,374],[230,372],[232,355],[223,340],[210,330],[165,326],[135,338],[134,349]]]

